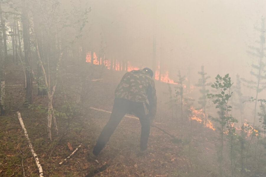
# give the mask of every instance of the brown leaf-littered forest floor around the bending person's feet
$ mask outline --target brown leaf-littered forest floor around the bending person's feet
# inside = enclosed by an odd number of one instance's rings
[[[88,162],[86,154],[95,145],[110,116],[109,113],[95,111],[89,107],[111,111],[114,89],[123,73],[89,66],[90,72],[86,73],[88,77],[83,85],[82,104],[75,106],[73,103],[79,86],[74,73],[75,66],[72,69],[65,68],[53,102],[58,112],[59,135],[57,136],[52,128],[52,142],[47,137],[47,115],[44,111],[48,103],[47,96],[37,96],[37,86],[34,86],[33,105],[24,107],[23,86],[10,86],[23,84],[23,72],[18,66],[6,71],[7,115],[0,117],[0,176],[22,176],[22,160],[26,176],[38,176],[35,160],[27,147],[27,140],[17,119],[17,111],[21,112],[44,176],[219,176],[216,157],[219,133],[205,129],[196,121],[191,124],[186,113],[183,126],[179,113],[178,121],[175,121],[175,116],[172,120],[170,106],[166,104],[169,97],[168,86],[164,83],[156,83],[157,126],[182,141],[173,140],[157,128],[151,127],[148,146],[152,152],[146,156],[138,156],[141,127],[139,120],[124,117],[99,154],[99,163]],[[90,81],[98,78],[103,79]],[[67,103],[71,105],[67,111],[64,107],[65,95]],[[67,133],[64,134],[65,132]],[[59,165],[58,163],[73,151],[70,151],[68,142],[74,149],[81,143],[83,145],[72,158]],[[103,165],[106,166],[101,168]],[[229,171],[229,168],[225,165],[224,171],[227,170]]]

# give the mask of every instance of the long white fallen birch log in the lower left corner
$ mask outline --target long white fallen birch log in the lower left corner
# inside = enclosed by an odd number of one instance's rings
[[[29,140],[29,135],[28,135],[28,132],[27,132],[27,130],[26,130],[26,128],[25,128],[25,125],[24,125],[24,123],[23,123],[23,120],[22,120],[22,118],[21,118],[21,114],[20,114],[20,112],[17,112],[17,115],[18,115],[19,123],[20,123],[22,129],[24,130],[24,135],[25,135],[25,137],[26,137],[27,140],[28,140],[30,151],[32,152],[32,155],[33,155],[33,157],[34,157],[34,159],[35,159],[35,162],[36,162],[36,165],[37,165],[37,167],[38,167],[38,170],[39,170],[39,176],[40,176],[40,177],[43,177],[42,166],[41,166],[41,164],[40,164],[40,162],[39,162],[38,155],[37,155],[37,154],[35,153],[35,151],[33,150],[32,143],[31,143],[31,141]]]

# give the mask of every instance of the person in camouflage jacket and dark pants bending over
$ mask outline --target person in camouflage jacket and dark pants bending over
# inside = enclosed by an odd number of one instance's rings
[[[140,154],[147,153],[150,125],[154,125],[157,109],[155,83],[150,68],[127,72],[115,90],[111,117],[102,130],[93,150],[88,152],[89,160],[96,160],[117,125],[125,114],[134,114],[141,123]]]

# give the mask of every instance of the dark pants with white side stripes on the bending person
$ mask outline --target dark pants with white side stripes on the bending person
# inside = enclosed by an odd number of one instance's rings
[[[111,117],[102,130],[101,135],[99,136],[98,141],[93,149],[94,155],[97,156],[101,152],[111,135],[114,133],[117,125],[127,113],[133,113],[139,118],[141,123],[140,149],[147,149],[147,143],[150,134],[150,116],[146,106],[143,103],[116,98],[114,100]]]

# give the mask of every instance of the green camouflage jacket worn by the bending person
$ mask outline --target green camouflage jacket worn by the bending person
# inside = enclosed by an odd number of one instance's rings
[[[150,119],[155,118],[157,109],[155,83],[146,71],[133,70],[127,72],[115,90],[115,97],[147,103]]]

